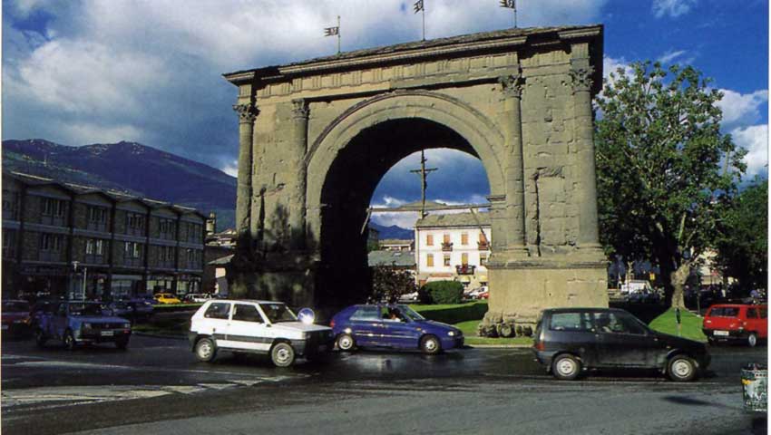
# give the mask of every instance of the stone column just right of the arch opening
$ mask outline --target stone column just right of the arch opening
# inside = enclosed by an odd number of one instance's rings
[[[515,256],[527,256],[524,213],[524,161],[522,159],[522,73],[501,77],[503,132],[506,141],[506,245]]]

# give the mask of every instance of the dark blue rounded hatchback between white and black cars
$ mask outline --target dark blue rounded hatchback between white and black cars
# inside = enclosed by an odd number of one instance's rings
[[[407,305],[362,304],[349,306],[329,324],[337,348],[360,347],[419,349],[435,354],[464,346],[464,333],[449,324],[426,320]]]

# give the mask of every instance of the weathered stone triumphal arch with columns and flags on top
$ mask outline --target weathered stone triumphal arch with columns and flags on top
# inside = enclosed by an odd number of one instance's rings
[[[226,74],[239,88],[234,291],[361,302],[366,208],[397,161],[478,157],[490,183],[487,320],[607,306],[591,97],[600,25],[512,29]]]

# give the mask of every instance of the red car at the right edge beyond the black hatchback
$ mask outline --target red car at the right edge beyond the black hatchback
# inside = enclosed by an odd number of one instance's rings
[[[731,340],[744,341],[752,347],[768,337],[767,315],[767,305],[712,305],[704,315],[702,331],[710,344]]]

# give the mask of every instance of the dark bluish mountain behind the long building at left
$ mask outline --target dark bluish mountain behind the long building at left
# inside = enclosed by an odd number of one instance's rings
[[[232,227],[236,179],[198,161],[136,142],[70,147],[49,140],[3,140],[3,170],[122,190],[217,213],[219,229]]]

